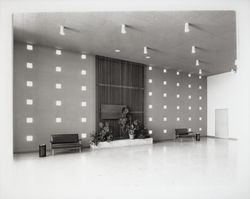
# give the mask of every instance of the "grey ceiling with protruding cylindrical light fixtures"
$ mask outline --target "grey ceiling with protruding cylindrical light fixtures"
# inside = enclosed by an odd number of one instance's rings
[[[184,24],[190,32],[184,32]],[[121,34],[121,24],[127,33]],[[236,60],[234,11],[18,13],[14,39],[203,75],[231,71]],[[59,26],[65,26],[65,35]],[[191,46],[197,46],[191,53]],[[148,46],[146,59],[143,47]],[[120,52],[115,52],[119,49]],[[195,66],[195,60],[200,66]]]

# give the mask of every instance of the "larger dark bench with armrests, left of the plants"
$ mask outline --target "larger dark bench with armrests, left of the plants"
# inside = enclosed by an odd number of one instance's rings
[[[55,154],[55,149],[79,149],[81,152],[82,143],[78,134],[53,134],[50,136],[51,154]]]

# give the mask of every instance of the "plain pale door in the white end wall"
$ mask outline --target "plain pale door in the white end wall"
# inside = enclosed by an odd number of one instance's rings
[[[228,109],[215,110],[215,137],[228,138]]]

